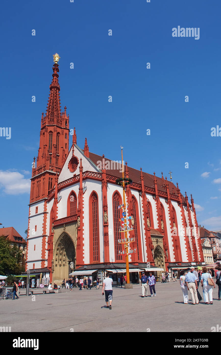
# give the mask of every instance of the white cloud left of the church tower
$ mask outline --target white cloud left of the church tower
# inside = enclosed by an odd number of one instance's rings
[[[31,181],[17,171],[0,170],[0,188],[8,195],[30,193]]]

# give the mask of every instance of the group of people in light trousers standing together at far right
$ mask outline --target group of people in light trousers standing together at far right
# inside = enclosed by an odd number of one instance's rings
[[[218,285],[218,300],[220,300],[221,294],[221,267],[217,267],[216,273],[216,284]],[[206,305],[213,304],[212,300],[212,289],[216,287],[214,280],[212,279],[211,270],[207,267],[203,267],[202,273],[198,269],[194,269],[194,267],[190,267],[187,269],[187,273],[185,275],[184,271],[180,273],[179,282],[181,285],[181,290],[183,292],[183,301],[184,304],[188,304],[188,291],[190,291],[192,305],[198,305],[199,302],[203,299],[199,292],[199,282],[201,283],[201,287],[203,289],[203,297]],[[209,303],[210,302],[210,303]]]

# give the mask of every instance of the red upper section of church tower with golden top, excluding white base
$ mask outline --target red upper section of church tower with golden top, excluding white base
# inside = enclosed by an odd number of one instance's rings
[[[57,64],[59,58],[56,53],[45,116],[42,113],[38,155],[32,166],[30,203],[48,196],[55,185],[56,173],[60,173],[68,154],[69,115],[66,114],[66,106],[61,113]]]

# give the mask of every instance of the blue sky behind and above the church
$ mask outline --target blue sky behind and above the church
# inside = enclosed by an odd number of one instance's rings
[[[0,137],[3,226],[22,236],[28,226],[57,52],[61,107],[77,144],[87,137],[91,152],[113,160],[122,145],[129,166],[167,178],[171,170],[181,192],[193,194],[198,223],[221,229],[221,137],[211,137],[221,127],[220,1],[5,1],[1,10],[0,126],[11,127],[11,139]],[[199,27],[200,38],[172,37],[178,26]]]

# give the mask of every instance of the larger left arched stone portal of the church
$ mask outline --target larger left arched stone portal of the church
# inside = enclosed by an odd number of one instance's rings
[[[73,240],[71,237],[63,232],[57,240],[54,252],[54,272],[53,282],[62,280],[69,277],[71,272],[70,263],[75,264],[76,251]],[[74,265],[75,266],[75,265]]]

